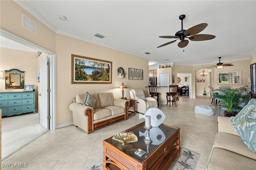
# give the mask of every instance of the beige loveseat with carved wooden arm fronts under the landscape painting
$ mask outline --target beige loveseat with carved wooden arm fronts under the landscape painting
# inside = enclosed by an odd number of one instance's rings
[[[94,93],[90,95],[96,100],[92,107],[83,104],[86,94],[76,95],[73,103],[69,105],[74,125],[85,130],[87,134],[128,118],[129,101],[115,99],[113,93]]]

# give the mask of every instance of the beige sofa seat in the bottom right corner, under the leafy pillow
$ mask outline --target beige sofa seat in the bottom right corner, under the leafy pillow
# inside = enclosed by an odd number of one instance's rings
[[[230,117],[218,117],[218,132],[207,170],[255,170],[256,154],[232,127]]]

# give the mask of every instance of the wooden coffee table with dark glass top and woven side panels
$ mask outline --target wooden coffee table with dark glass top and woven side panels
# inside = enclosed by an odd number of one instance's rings
[[[180,154],[180,128],[165,124],[153,127],[150,129],[152,143],[146,144],[144,125],[142,122],[126,130],[134,132],[138,142],[122,145],[112,136],[103,140],[104,170],[162,170]],[[138,148],[148,151],[140,157],[134,154]]]

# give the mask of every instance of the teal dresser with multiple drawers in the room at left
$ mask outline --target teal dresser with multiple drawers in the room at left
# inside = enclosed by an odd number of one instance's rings
[[[0,93],[2,117],[35,113],[35,103],[35,91]]]

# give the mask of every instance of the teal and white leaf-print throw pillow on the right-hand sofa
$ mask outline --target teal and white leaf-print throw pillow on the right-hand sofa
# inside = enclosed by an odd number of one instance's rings
[[[256,99],[251,99],[235,117],[230,117],[230,120],[244,143],[256,154]]]

